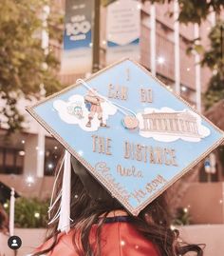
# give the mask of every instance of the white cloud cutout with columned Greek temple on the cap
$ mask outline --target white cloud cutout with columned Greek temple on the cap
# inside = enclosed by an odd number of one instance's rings
[[[150,121],[147,117],[150,118]],[[153,120],[154,117],[157,121]],[[199,142],[211,133],[209,128],[201,124],[201,117],[190,109],[175,111],[172,108],[144,108],[143,112],[137,114],[137,118],[140,121],[140,136],[153,138],[160,142],[173,142],[178,139]],[[159,118],[164,118],[165,121],[163,121],[164,119],[158,121]],[[170,121],[172,118],[173,121]],[[190,123],[188,120],[190,120]],[[174,131],[174,129],[177,129],[177,131]]]

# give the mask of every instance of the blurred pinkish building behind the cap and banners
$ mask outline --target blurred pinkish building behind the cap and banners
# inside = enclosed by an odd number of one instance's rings
[[[54,8],[64,10],[64,1],[55,0]],[[204,92],[211,72],[206,68],[196,70],[196,56],[187,55],[186,49],[189,43],[196,38],[196,28],[193,25],[179,25],[178,44],[175,39],[175,19],[170,16],[168,10],[174,10],[173,4],[155,6],[155,71],[157,76],[170,89],[176,89],[177,72],[175,68],[175,55],[179,53],[179,84],[180,95],[196,108],[196,85]],[[152,69],[151,45],[151,18],[152,6],[149,2],[141,5],[140,10],[140,63],[146,69]],[[106,9],[102,8],[101,17],[101,67],[105,67],[106,44],[105,44]],[[207,36],[213,25],[215,17],[211,15],[199,27],[201,43],[208,46]],[[63,31],[62,31],[63,36]],[[177,37],[176,37],[177,38]],[[49,41],[49,49],[54,50],[57,57],[61,58],[62,45]],[[197,73],[196,73],[197,72]],[[77,78],[85,77],[86,73],[65,75],[59,73],[62,83],[68,85],[75,83]],[[18,174],[27,177],[26,181],[31,183],[31,177],[43,177],[52,175],[54,167],[63,152],[62,146],[47,134],[43,128],[28,116],[24,110],[30,102],[21,100],[20,108],[24,111],[27,128],[22,133],[7,135],[7,127],[0,128],[0,174],[5,180],[9,180],[9,174]],[[219,170],[221,171],[221,170]],[[0,177],[1,177],[0,176]],[[13,175],[12,175],[13,176]],[[203,176],[203,175],[202,175]],[[11,175],[10,175],[11,177]],[[29,179],[29,180],[28,180]]]

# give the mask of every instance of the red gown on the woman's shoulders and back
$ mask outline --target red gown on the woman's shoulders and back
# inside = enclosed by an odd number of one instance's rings
[[[90,233],[90,243],[94,245],[95,230]],[[47,256],[79,256],[72,244],[74,231],[59,234],[58,243]],[[52,243],[48,240],[37,251],[46,249]],[[144,238],[130,223],[116,222],[104,224],[101,236],[102,256],[160,256],[159,249],[148,239]]]

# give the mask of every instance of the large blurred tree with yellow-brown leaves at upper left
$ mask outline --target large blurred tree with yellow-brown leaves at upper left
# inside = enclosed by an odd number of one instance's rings
[[[6,118],[9,131],[22,128],[24,121],[18,99],[39,98],[41,88],[46,94],[61,88],[55,75],[59,63],[52,51],[41,47],[46,5],[50,5],[49,0],[0,1],[0,114]],[[48,16],[51,37],[59,38],[55,28],[61,22],[57,15]]]

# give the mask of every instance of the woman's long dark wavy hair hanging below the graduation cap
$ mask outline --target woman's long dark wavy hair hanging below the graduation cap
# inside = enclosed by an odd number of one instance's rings
[[[58,193],[61,191],[62,178],[63,174],[60,173],[56,186],[57,192],[54,198],[57,198]],[[80,256],[101,256],[100,236],[106,214],[111,210],[123,209],[123,207],[121,207],[116,199],[109,200],[108,203],[91,198],[79,176],[74,171],[72,171],[71,175],[71,187],[70,213],[71,219],[73,220],[71,228],[74,230],[72,239],[74,249]],[[156,200],[145,207],[138,217],[130,216],[131,224],[144,237],[158,246],[161,256],[179,256],[189,251],[195,251],[197,256],[202,256],[203,251],[200,246],[188,245],[181,242],[178,238],[178,231],[170,228],[170,214],[165,198],[165,193],[161,194]],[[59,204],[60,202],[54,207],[52,216],[56,214]],[[91,227],[96,223],[98,224],[95,233],[97,245],[93,248],[89,242],[89,235]],[[48,227],[47,240],[52,240],[51,245],[47,249],[33,254],[33,256],[45,254],[56,246],[58,242],[57,237],[60,233],[57,230],[57,226],[58,222],[55,222]],[[80,243],[78,244],[77,241]]]

